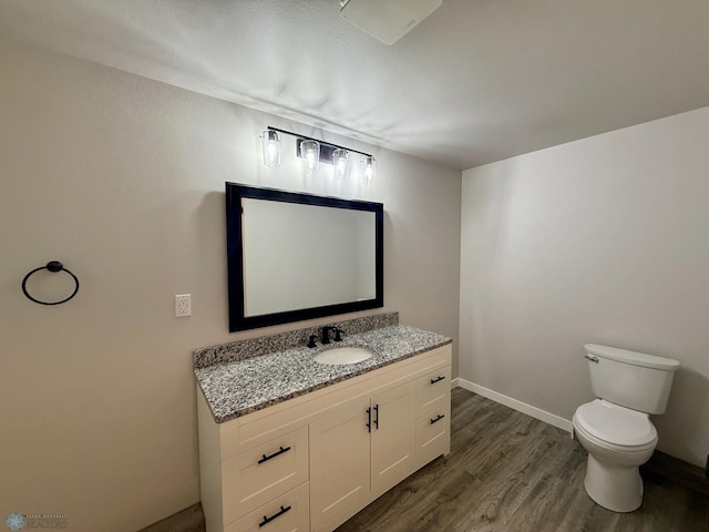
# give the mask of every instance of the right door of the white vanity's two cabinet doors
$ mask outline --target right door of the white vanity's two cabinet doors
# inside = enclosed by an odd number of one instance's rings
[[[372,492],[386,491],[415,470],[415,382],[372,396]]]

